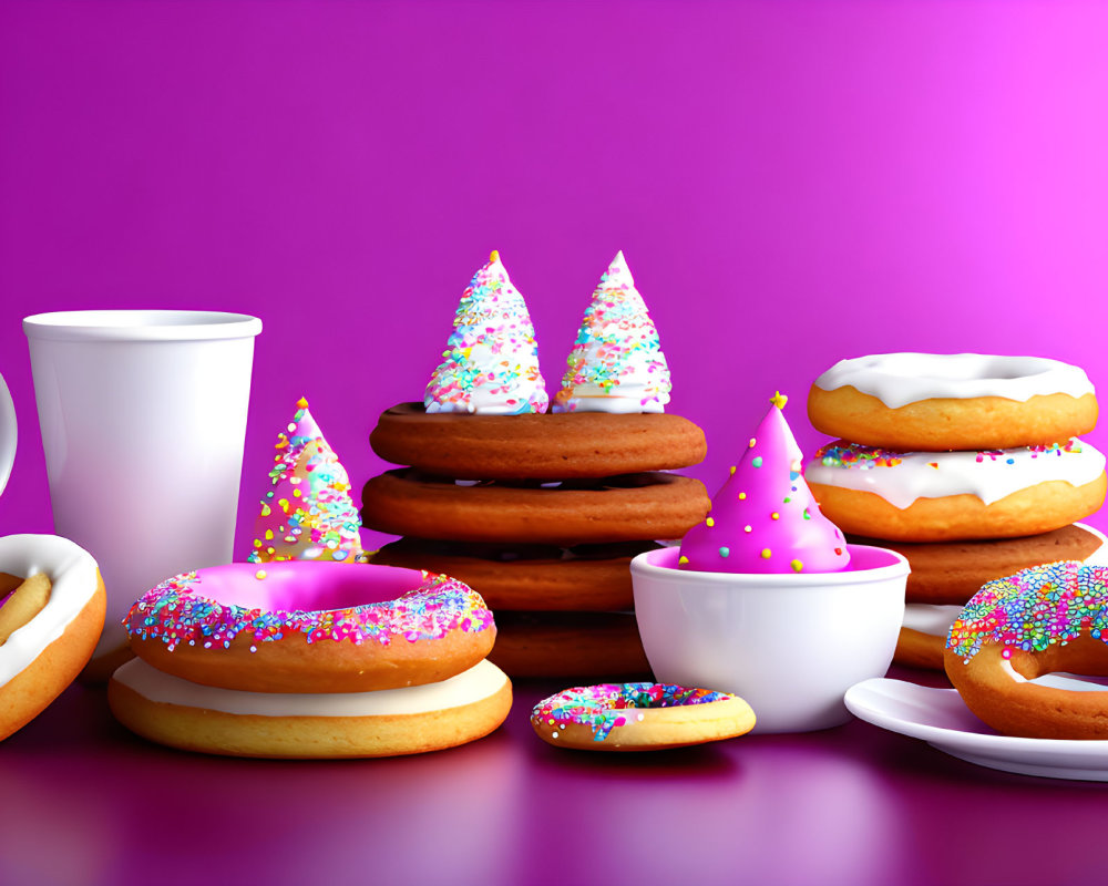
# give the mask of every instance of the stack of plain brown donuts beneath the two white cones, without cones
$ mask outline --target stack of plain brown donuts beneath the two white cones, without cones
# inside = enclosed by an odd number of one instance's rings
[[[522,415],[387,410],[373,451],[408,465],[362,491],[367,528],[400,535],[373,563],[451,575],[496,614],[512,677],[649,673],[630,558],[704,519],[704,432],[665,413]]]

